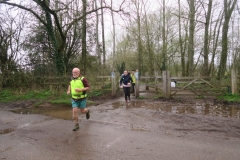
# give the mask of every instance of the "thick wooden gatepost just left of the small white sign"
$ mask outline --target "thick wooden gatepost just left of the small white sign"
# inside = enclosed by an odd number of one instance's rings
[[[163,81],[163,85],[162,85],[163,96],[170,97],[170,95],[171,95],[171,78],[170,78],[169,71],[162,72],[162,81]]]

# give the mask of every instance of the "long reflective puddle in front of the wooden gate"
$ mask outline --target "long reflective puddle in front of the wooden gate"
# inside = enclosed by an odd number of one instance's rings
[[[117,108],[147,108],[156,109],[163,112],[171,112],[175,114],[198,114],[208,116],[219,116],[219,117],[233,117],[240,118],[240,107],[236,106],[212,106],[212,105],[195,105],[195,106],[184,106],[184,105],[172,105],[162,106],[159,103],[147,103],[147,102],[116,102],[112,104],[114,109]]]

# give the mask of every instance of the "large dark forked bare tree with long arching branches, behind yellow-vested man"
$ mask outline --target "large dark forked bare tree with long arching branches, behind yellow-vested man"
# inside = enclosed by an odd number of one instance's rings
[[[65,54],[65,53],[63,52],[63,50],[66,47],[66,37],[69,33],[69,30],[72,29],[72,27],[76,24],[76,22],[82,20],[84,17],[86,17],[86,15],[91,14],[91,13],[95,12],[96,10],[99,10],[102,8],[112,9],[111,7],[105,5],[100,8],[97,8],[95,10],[87,11],[85,15],[80,15],[76,18],[73,18],[73,17],[71,17],[71,15],[68,14],[69,11],[67,11],[68,5],[72,2],[66,2],[66,4],[61,3],[62,8],[56,10],[53,7],[53,5],[50,4],[50,0],[43,0],[43,1],[42,0],[32,0],[32,1],[39,7],[40,11],[45,13],[45,17],[41,17],[41,13],[38,13],[37,11],[35,11],[35,9],[28,8],[21,4],[11,3],[8,1],[3,1],[3,0],[0,1],[0,4],[3,3],[3,4],[10,5],[10,6],[18,7],[18,8],[21,8],[23,10],[26,10],[26,11],[32,13],[46,27],[49,38],[51,40],[54,56],[55,56],[54,60],[55,60],[55,64],[56,64],[56,69],[58,71],[58,74],[60,74],[60,75],[65,74],[66,66],[63,61],[63,54]],[[119,10],[117,10],[116,12],[119,12],[120,10],[121,10],[121,8]],[[60,23],[60,16],[59,16],[60,12],[67,14],[68,19],[70,19],[69,23],[67,23],[67,24]],[[53,17],[54,23],[53,23],[52,17]],[[56,30],[54,29],[53,24],[55,24]],[[58,37],[58,38],[56,38],[56,37]],[[83,70],[85,70],[85,68],[83,68]]]

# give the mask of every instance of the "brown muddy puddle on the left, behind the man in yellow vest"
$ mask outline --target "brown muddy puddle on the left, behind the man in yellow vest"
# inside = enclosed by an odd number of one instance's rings
[[[17,114],[41,114],[46,116],[51,116],[55,118],[60,118],[64,120],[72,119],[72,108],[24,108],[13,110],[13,113]]]

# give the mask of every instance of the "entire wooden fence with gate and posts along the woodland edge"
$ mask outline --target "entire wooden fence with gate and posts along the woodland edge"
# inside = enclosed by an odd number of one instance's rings
[[[135,95],[139,97],[141,92],[146,92],[149,88],[156,91],[161,91],[164,97],[170,97],[182,92],[191,92],[195,95],[221,95],[224,92],[231,92],[233,94],[239,93],[240,76],[235,70],[231,70],[231,77],[227,77],[229,83],[222,83],[223,80],[217,80],[218,77],[171,77],[169,71],[163,71],[162,75],[155,72],[154,76],[141,76],[140,79],[137,74]],[[44,85],[52,90],[67,87],[69,77],[48,77],[45,78]],[[91,89],[107,89],[112,91],[112,96],[116,96],[119,86],[120,77],[115,73],[111,76],[98,76],[94,81],[90,82]],[[176,83],[175,83],[176,82]],[[146,86],[145,91],[140,91],[141,85]]]

